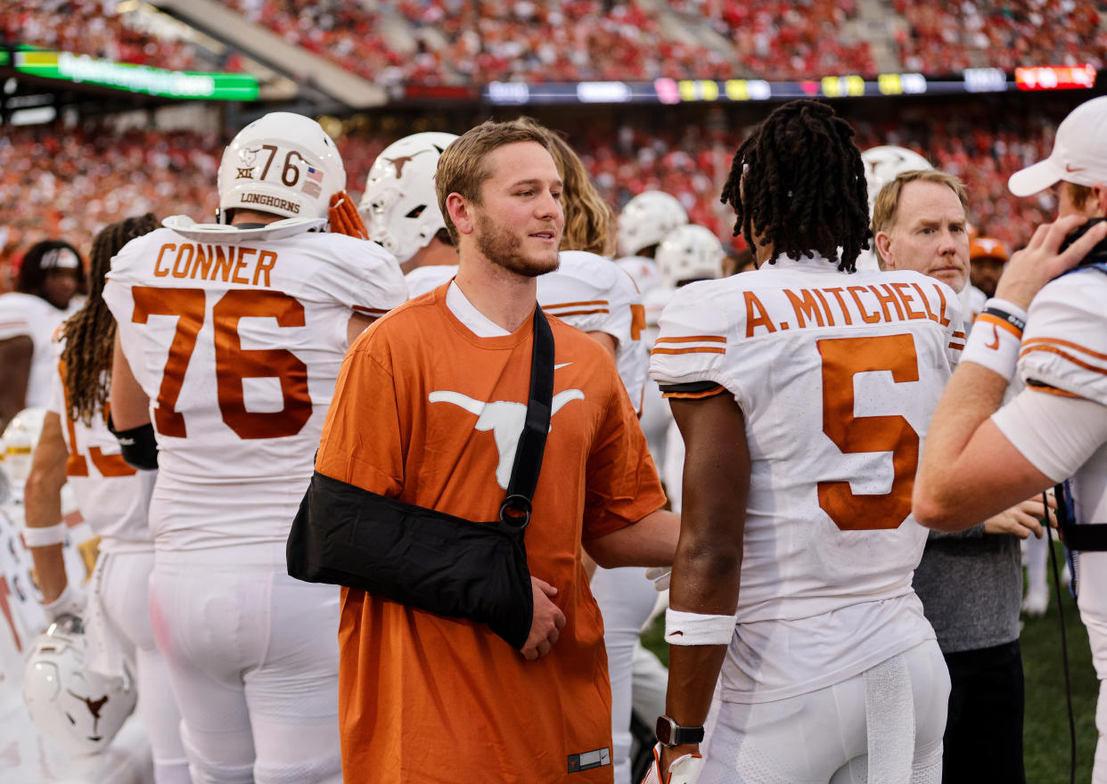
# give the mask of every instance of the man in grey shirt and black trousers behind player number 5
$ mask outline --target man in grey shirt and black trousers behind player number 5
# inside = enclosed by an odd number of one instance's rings
[[[933,170],[899,175],[872,208],[884,268],[915,270],[959,294],[966,291],[966,211],[955,177]],[[943,784],[1026,781],[1018,540],[1042,536],[1043,514],[1042,501],[1026,501],[966,531],[931,531],[914,572],[914,590],[950,669]]]

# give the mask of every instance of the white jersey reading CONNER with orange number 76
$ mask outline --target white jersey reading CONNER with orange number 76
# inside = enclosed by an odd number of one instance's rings
[[[218,243],[159,229],[112,260],[104,299],[151,398],[158,548],[282,545],[350,316],[406,299],[395,259],[344,234]]]

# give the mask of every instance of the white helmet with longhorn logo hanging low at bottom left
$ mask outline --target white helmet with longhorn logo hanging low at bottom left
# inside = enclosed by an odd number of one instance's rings
[[[23,702],[39,732],[71,754],[107,748],[135,708],[134,679],[84,669],[81,619],[66,615],[39,635],[23,670]]]

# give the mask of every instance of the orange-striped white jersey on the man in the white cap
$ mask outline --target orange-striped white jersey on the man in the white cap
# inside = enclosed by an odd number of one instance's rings
[[[1083,269],[1047,283],[1031,303],[1018,376],[1107,406],[1107,274]],[[1107,522],[1107,445],[1073,478],[1076,520]]]

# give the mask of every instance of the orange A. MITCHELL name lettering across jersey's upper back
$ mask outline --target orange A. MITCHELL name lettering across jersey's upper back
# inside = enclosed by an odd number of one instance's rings
[[[941,303],[938,313],[930,306],[927,286],[933,286],[938,292]],[[759,294],[747,290],[742,293],[746,306],[746,337],[756,336],[758,328],[764,331],[762,334],[768,334],[777,330],[804,328],[808,322],[813,326],[836,326],[839,320],[844,325],[850,326],[855,323],[892,324],[928,318],[948,326],[950,320],[945,316],[946,295],[954,299],[952,290],[944,284],[903,281],[873,285],[763,290]],[[769,301],[766,306],[763,300],[768,301],[769,297],[775,302]],[[795,322],[773,321],[769,312],[779,314],[782,305],[792,306]]]

